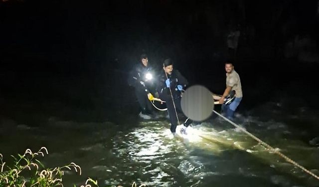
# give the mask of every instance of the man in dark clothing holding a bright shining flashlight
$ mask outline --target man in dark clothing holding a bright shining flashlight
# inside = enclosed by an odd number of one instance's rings
[[[135,95],[141,107],[139,116],[144,119],[151,119],[152,105],[148,100],[148,93],[154,93],[155,84],[153,82],[153,70],[149,64],[147,54],[140,56],[140,62],[130,72],[128,83],[135,88]]]

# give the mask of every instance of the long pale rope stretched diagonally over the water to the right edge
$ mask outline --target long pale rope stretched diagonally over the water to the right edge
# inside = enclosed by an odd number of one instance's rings
[[[267,147],[268,149],[270,149],[271,151],[273,151],[274,153],[276,153],[277,155],[281,156],[282,158],[286,159],[288,162],[290,162],[291,164],[297,166],[298,168],[302,169],[304,172],[308,173],[309,175],[313,176],[314,178],[319,180],[319,177],[312,173],[311,171],[307,170],[306,168],[304,168],[303,166],[299,165],[297,162],[291,160],[290,158],[288,158],[286,155],[280,153],[278,151],[278,149],[275,149],[273,147],[271,147],[270,145],[266,144],[265,142],[263,142],[262,140],[260,140],[259,138],[255,137],[254,135],[252,135],[251,133],[249,133],[248,131],[246,131],[244,128],[240,127],[239,125],[235,124],[234,122],[230,121],[229,119],[225,118],[224,116],[222,116],[221,114],[219,114],[218,112],[216,112],[215,110],[213,110],[213,112],[215,114],[217,114],[218,116],[222,117],[224,120],[226,120],[228,123],[232,124],[233,126],[239,128],[241,131],[243,131],[244,133],[246,133],[248,136],[250,136],[251,138],[255,139],[257,142],[259,142],[261,145]]]

